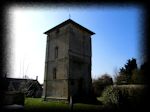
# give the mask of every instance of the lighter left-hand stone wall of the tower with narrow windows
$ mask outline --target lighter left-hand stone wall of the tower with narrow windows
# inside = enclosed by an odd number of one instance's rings
[[[47,97],[68,98],[68,26],[59,31],[51,32],[47,41],[47,56],[45,65],[44,86]],[[55,47],[58,47],[58,57],[55,58]],[[53,69],[57,69],[56,79],[53,79]],[[46,90],[47,89],[47,90]]]

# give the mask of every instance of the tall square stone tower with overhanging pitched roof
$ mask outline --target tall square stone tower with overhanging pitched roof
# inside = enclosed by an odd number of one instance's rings
[[[71,19],[46,31],[43,98],[68,100],[91,90],[91,35]]]

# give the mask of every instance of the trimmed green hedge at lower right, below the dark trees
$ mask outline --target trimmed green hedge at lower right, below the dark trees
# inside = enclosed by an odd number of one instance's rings
[[[103,91],[101,100],[106,105],[137,107],[144,102],[145,90],[144,85],[108,86]]]

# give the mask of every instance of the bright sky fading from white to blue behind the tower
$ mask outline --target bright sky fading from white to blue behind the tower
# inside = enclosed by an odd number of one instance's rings
[[[7,10],[11,40],[9,77],[27,75],[42,84],[46,52],[45,31],[70,18],[95,32],[92,35],[92,78],[112,77],[128,59],[141,63],[141,14],[138,6],[32,7],[11,6]]]

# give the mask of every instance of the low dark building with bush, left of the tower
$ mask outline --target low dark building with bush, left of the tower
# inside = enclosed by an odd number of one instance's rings
[[[5,78],[6,91],[22,92],[26,97],[41,97],[42,85],[38,80],[21,79],[21,78]]]

